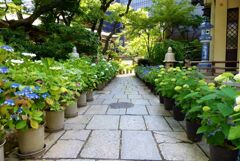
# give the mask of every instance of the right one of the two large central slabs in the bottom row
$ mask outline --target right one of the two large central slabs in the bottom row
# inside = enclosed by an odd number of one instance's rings
[[[161,160],[157,144],[149,131],[123,131],[122,159]]]

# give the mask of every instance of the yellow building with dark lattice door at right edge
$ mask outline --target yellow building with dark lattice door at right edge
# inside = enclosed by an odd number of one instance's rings
[[[210,61],[238,61],[240,59],[240,0],[204,0],[213,24]],[[216,64],[236,67],[237,63]]]

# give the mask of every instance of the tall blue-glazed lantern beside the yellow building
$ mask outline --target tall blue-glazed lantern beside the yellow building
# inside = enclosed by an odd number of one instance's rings
[[[199,64],[199,67],[211,67],[209,62],[209,44],[210,41],[212,40],[212,36],[211,36],[211,28],[213,27],[213,25],[211,25],[207,20],[205,20],[201,25],[200,25],[200,30],[201,30],[201,35],[199,37],[200,42],[202,43],[202,58],[201,58],[201,62]]]

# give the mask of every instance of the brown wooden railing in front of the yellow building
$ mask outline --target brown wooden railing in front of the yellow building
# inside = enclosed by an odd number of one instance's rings
[[[225,71],[229,71],[234,74],[239,72],[239,61],[209,61],[209,62],[190,61],[190,62],[185,63],[185,65],[186,66],[194,66],[194,65],[198,66],[199,63],[211,64],[211,67],[199,67],[199,69],[206,70],[212,76],[221,74]],[[232,66],[226,67],[227,64],[232,64]]]

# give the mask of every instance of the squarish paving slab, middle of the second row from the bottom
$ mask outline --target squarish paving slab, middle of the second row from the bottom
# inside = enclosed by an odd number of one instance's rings
[[[142,116],[121,116],[121,130],[146,130]]]

